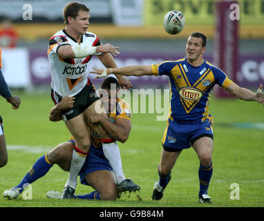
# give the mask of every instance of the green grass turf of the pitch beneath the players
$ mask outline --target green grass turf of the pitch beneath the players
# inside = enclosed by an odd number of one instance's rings
[[[8,144],[8,164],[0,169],[0,193],[18,184],[41,155],[70,136],[64,122],[49,122],[48,113],[53,103],[48,93],[17,94],[21,97],[19,110],[12,110],[5,99],[0,99],[0,115]],[[32,184],[32,200],[23,200],[22,195],[17,200],[1,197],[0,206],[264,206],[264,131],[223,126],[232,122],[264,124],[263,106],[256,102],[214,98],[210,106],[214,116],[214,173],[209,186],[212,205],[198,203],[199,162],[192,148],[182,151],[162,200],[151,200],[153,184],[158,180],[166,122],[157,122],[155,114],[133,114],[129,140],[119,146],[124,173],[141,186],[142,200],[138,200],[135,193],[123,194],[116,201],[46,199],[48,190],[62,191],[68,177],[68,173],[55,165]],[[20,149],[15,149],[19,146]],[[240,187],[239,200],[230,200],[232,183]],[[91,191],[89,186],[77,185],[77,194]]]

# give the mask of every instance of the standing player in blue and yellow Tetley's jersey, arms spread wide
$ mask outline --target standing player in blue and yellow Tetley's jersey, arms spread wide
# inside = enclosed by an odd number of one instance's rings
[[[227,75],[203,59],[207,38],[200,32],[189,35],[186,57],[176,61],[164,61],[150,66],[126,66],[122,68],[93,68],[91,73],[105,77],[111,73],[125,76],[167,75],[171,90],[170,114],[162,137],[162,153],[155,183],[153,200],[160,200],[169,180],[171,170],[183,149],[193,147],[200,160],[198,176],[200,203],[211,203],[207,190],[213,173],[213,117],[209,115],[209,100],[215,84],[238,99],[264,104],[262,84],[257,93],[241,88]]]

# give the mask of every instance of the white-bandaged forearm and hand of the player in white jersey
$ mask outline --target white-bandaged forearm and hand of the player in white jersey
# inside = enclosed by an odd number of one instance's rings
[[[116,56],[120,54],[120,52],[117,51],[118,48],[119,47],[112,46],[111,44],[105,44],[101,46],[89,46],[86,44],[80,44],[76,46],[65,45],[59,47],[57,54],[64,59],[87,57],[88,55],[94,55],[95,53],[99,52],[110,52],[111,55]]]

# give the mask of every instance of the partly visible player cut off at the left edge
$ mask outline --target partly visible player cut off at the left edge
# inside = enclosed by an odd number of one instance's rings
[[[15,110],[19,108],[20,98],[18,96],[12,96],[6,80],[1,72],[1,48],[0,48],[0,95],[6,98],[6,101],[12,104],[12,108]],[[3,119],[0,116],[0,167],[3,167],[8,162],[8,151],[6,150],[6,137],[3,133]]]

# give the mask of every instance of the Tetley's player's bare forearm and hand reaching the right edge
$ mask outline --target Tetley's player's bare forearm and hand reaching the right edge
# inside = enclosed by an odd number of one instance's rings
[[[238,99],[243,99],[245,101],[256,101],[258,103],[264,104],[264,93],[262,92],[263,85],[261,84],[256,93],[253,93],[247,88],[241,88],[236,83],[232,83],[227,88],[227,91],[237,97]]]

